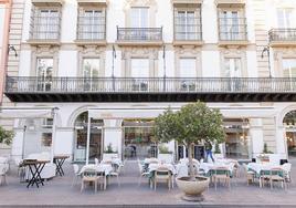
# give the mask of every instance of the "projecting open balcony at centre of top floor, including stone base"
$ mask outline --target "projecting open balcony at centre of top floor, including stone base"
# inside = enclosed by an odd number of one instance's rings
[[[162,45],[162,28],[117,28],[119,45]]]

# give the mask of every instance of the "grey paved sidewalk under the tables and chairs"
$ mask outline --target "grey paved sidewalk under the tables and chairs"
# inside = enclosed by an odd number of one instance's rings
[[[292,160],[292,179],[296,178],[296,159]],[[120,176],[120,187],[116,178],[112,178],[107,190],[94,193],[92,187],[80,191],[80,184],[71,187],[73,170],[71,164],[64,165],[65,176],[45,181],[41,188],[27,188],[17,177],[12,167],[8,177],[9,185],[0,187],[0,207],[14,205],[19,207],[40,206],[75,206],[75,207],[296,207],[296,186],[292,181],[287,190],[269,187],[260,188],[258,184],[246,186],[245,177],[232,179],[231,189],[220,186],[218,190],[210,187],[204,193],[202,202],[187,202],[180,199],[182,193],[175,187],[168,190],[159,185],[157,190],[150,189],[146,179],[138,186],[139,173],[136,162],[127,162]],[[104,205],[104,206],[103,206]],[[148,206],[149,205],[149,206]]]

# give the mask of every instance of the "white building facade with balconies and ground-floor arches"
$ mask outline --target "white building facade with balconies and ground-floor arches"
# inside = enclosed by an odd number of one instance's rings
[[[254,158],[264,144],[281,159],[293,154],[293,0],[17,4],[19,62],[8,66],[6,96],[17,107],[59,110],[54,133],[52,117],[14,119],[13,156],[47,152],[53,136],[54,154],[74,162],[102,158],[110,146],[121,158],[155,156],[154,118],[198,100],[221,110],[226,157]],[[177,143],[168,147],[186,156]]]

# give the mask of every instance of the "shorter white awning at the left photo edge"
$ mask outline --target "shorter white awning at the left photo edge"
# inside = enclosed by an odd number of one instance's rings
[[[52,117],[53,107],[2,107],[0,118],[46,118]]]

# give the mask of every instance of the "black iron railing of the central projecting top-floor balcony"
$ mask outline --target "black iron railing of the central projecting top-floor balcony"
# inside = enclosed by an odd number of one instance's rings
[[[162,41],[162,28],[118,28],[118,41]]]

